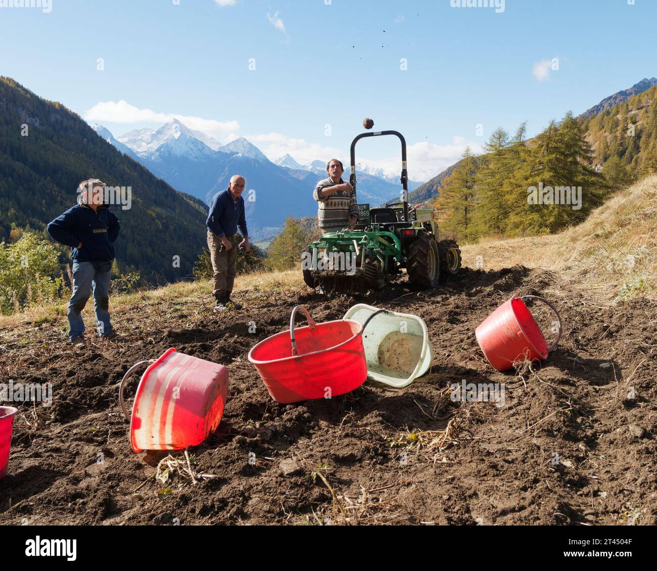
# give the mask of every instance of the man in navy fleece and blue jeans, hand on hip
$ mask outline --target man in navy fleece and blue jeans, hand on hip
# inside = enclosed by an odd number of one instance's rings
[[[91,296],[97,331],[102,339],[112,341],[118,334],[110,323],[110,280],[114,242],[121,227],[118,218],[104,203],[106,185],[99,179],[82,181],[78,186],[78,204],[48,224],[53,240],[71,247],[73,260],[73,294],[68,302],[68,336],[81,348],[85,345],[81,312]]]

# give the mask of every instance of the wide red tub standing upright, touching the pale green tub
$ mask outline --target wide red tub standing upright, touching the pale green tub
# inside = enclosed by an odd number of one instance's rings
[[[294,329],[297,309],[306,314],[307,327]],[[369,321],[361,325],[342,319],[317,325],[304,306],[296,306],[290,317],[290,331],[258,343],[250,350],[248,360],[256,367],[271,398],[279,403],[345,394],[367,379],[363,329]]]

